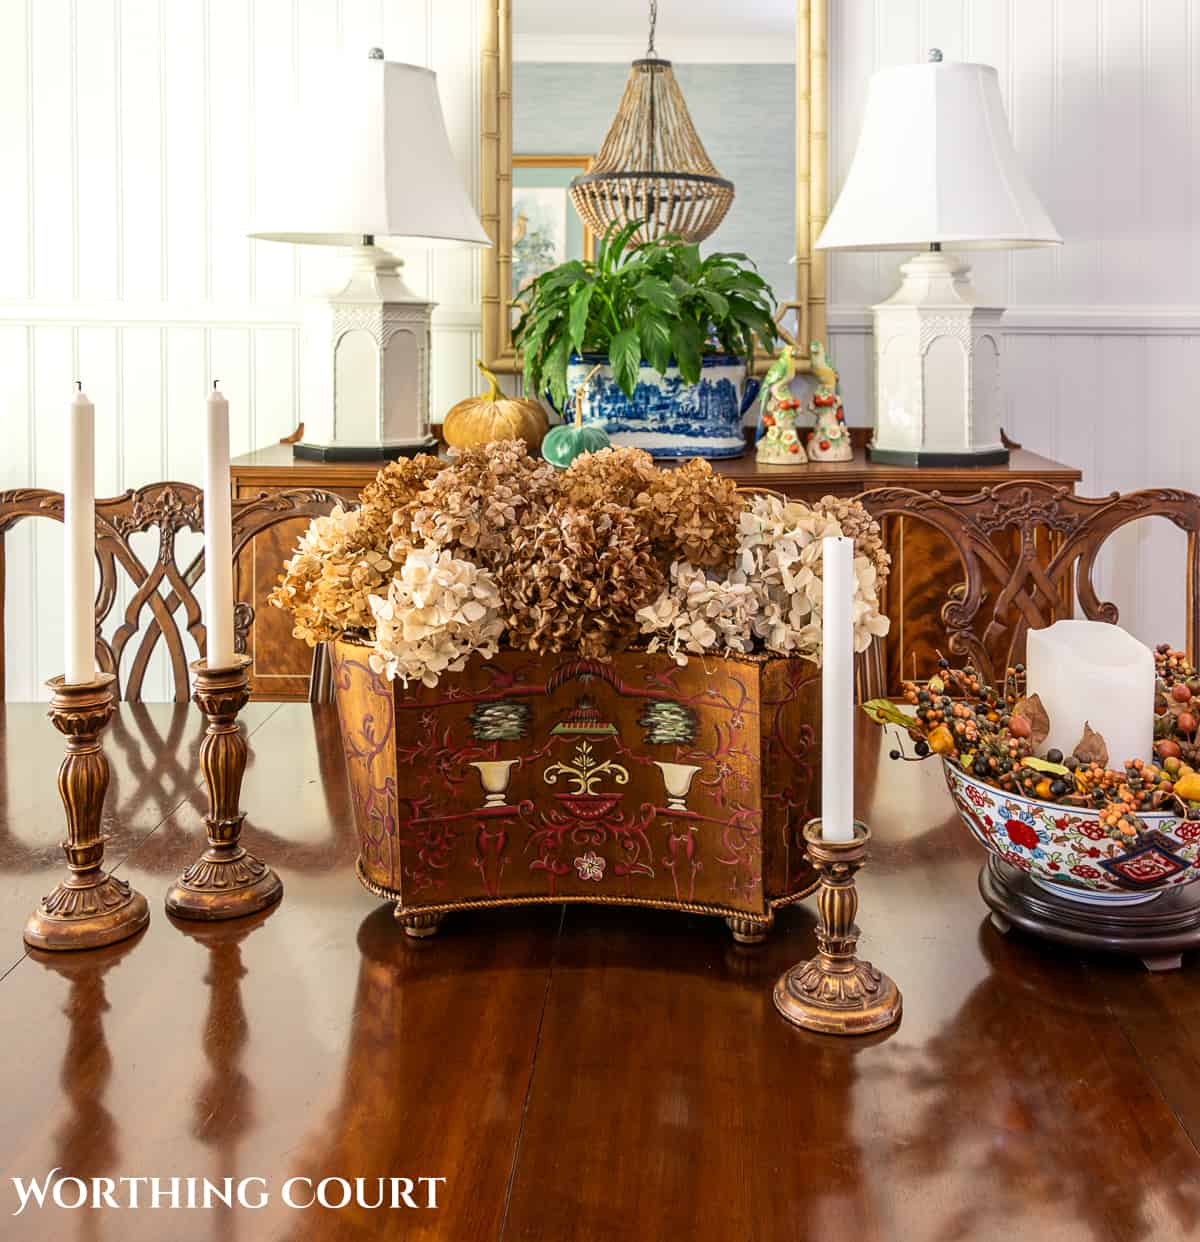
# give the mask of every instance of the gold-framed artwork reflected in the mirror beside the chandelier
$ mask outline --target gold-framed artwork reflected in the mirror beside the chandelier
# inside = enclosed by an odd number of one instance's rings
[[[595,238],[571,206],[571,178],[590,155],[513,155],[513,297],[570,258],[591,258]]]

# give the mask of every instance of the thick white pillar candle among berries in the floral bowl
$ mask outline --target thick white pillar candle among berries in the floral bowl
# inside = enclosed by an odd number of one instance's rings
[[[1084,720],[1108,746],[1108,765],[1149,759],[1154,745],[1154,653],[1119,626],[1056,621],[1030,630],[1026,684],[1050,718],[1042,744],[1070,755]]]

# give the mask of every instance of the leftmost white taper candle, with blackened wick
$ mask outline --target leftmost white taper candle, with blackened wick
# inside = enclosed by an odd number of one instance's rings
[[[67,414],[67,469],[62,503],[63,678],[68,686],[96,679],[96,407],[83,385]]]

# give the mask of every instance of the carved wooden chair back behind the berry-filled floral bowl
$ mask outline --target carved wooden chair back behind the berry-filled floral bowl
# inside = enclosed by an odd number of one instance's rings
[[[958,554],[963,581],[942,605],[945,655],[970,661],[989,679],[1025,658],[1025,636],[1072,616],[1116,623],[1102,600],[1096,563],[1109,537],[1140,518],[1161,517],[1188,537],[1188,653],[1200,651],[1200,496],[1174,488],[1073,496],[1034,479],[970,496],[878,488],[858,499],[881,522],[904,518],[940,530]]]

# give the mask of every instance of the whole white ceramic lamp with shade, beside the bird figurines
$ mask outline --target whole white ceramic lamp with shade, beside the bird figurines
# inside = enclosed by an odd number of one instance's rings
[[[980,306],[954,251],[1062,238],[1021,170],[990,65],[943,62],[871,78],[850,175],[817,250],[923,250],[875,307],[873,461],[1006,462],[1001,307]]]

